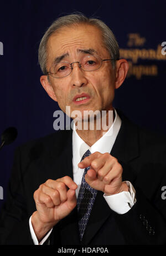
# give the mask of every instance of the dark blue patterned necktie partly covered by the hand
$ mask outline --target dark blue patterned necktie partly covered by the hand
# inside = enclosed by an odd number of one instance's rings
[[[90,150],[88,149],[85,154],[83,155],[81,161],[88,157],[91,154]],[[85,174],[87,173],[87,170],[89,170],[90,167],[85,168],[84,174],[82,176],[82,182],[81,187],[79,190],[79,195],[77,197],[77,210],[79,215],[79,232],[80,232],[80,240],[82,240],[82,237],[84,235],[84,231],[87,225],[87,222],[90,217],[91,209],[93,207],[93,204],[95,202],[95,197],[97,194],[97,190],[94,188],[91,188],[89,184],[85,181]]]

